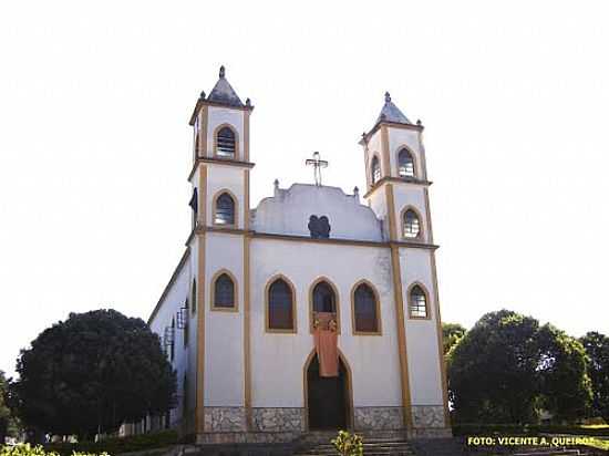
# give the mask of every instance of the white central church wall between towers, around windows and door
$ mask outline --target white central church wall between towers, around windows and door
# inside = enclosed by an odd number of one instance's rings
[[[339,349],[353,377],[354,406],[401,405],[395,312],[389,249],[290,242],[251,241],[251,386],[254,407],[303,407],[303,365],[313,350],[309,330],[309,288],[320,276],[339,291]],[[268,279],[281,273],[296,287],[296,334],[265,332]],[[351,289],[368,279],[380,297],[383,335],[352,335]]]

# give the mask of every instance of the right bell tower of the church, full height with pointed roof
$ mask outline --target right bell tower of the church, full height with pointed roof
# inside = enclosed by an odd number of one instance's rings
[[[383,220],[389,243],[401,370],[404,422],[412,428],[427,419],[448,426],[446,374],[423,125],[412,123],[385,93],[372,128],[362,135],[364,199]],[[421,346],[434,348],[437,360]],[[431,384],[437,385],[429,387]],[[433,406],[430,404],[434,404]]]

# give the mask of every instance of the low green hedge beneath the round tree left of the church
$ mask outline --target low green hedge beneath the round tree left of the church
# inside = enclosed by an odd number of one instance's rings
[[[162,448],[165,446],[185,443],[178,439],[177,432],[163,431],[159,433],[141,434],[130,437],[112,437],[101,442],[81,442],[78,444],[48,444],[44,449],[59,453],[61,456],[71,456],[76,453],[107,453],[110,455],[120,455],[130,452],[141,452],[144,449]]]

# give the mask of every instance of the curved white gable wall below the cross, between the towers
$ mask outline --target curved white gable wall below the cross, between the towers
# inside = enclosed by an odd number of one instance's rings
[[[337,187],[295,184],[277,189],[256,208],[251,228],[258,232],[310,236],[309,217],[327,216],[331,238],[381,241],[381,222],[353,195]]]

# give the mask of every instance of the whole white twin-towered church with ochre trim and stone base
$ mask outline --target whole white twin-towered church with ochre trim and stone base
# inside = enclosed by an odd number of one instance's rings
[[[360,141],[363,195],[276,182],[254,208],[252,111],[223,68],[190,117],[192,232],[148,320],[177,372],[166,424],[202,444],[450,435],[423,126],[385,94]],[[330,377],[314,348],[322,313]]]

